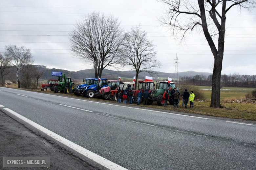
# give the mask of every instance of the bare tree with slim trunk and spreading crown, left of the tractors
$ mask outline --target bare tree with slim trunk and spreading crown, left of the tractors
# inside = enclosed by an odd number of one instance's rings
[[[16,67],[16,76],[18,82],[18,88],[20,88],[19,73],[24,64],[28,64],[32,61],[30,49],[25,46],[17,47],[16,45],[5,46],[5,56],[10,57],[13,61],[13,65]]]

